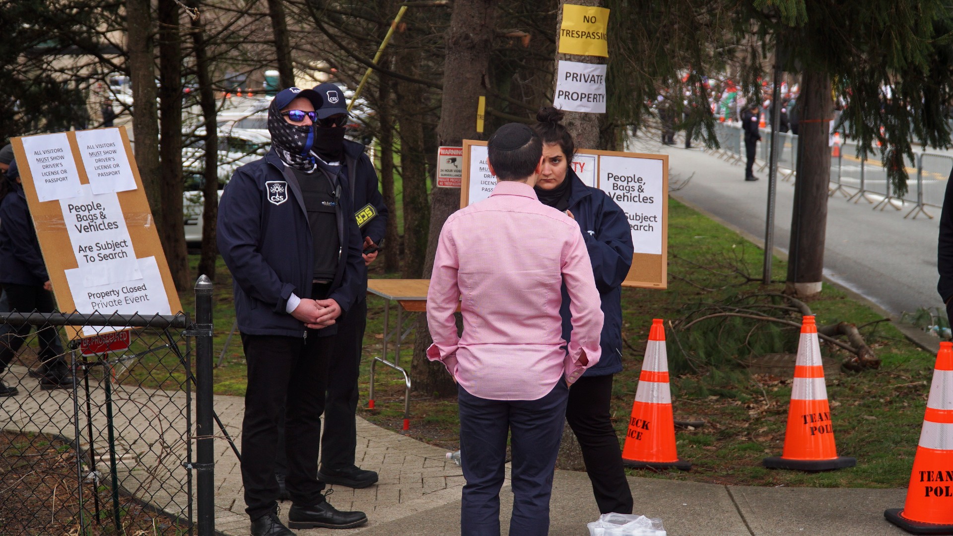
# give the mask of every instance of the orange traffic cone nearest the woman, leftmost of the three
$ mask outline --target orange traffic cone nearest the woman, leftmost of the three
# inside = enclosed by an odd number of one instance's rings
[[[675,448],[665,327],[661,319],[652,320],[652,330],[649,331],[636,402],[632,403],[629,431],[625,434],[622,464],[639,469],[675,467],[687,471],[692,468],[690,462],[679,460]]]

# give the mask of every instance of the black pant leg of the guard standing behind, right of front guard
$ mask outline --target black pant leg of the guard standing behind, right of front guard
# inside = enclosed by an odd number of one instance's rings
[[[321,437],[321,466],[343,469],[355,464],[357,446],[357,378],[367,325],[367,300],[355,303],[340,321],[335,336],[335,357],[328,370]]]

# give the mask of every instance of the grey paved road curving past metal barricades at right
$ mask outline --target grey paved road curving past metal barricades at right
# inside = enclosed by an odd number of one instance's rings
[[[759,174],[760,181],[745,182],[740,165],[728,164],[698,149],[662,146],[654,139],[633,140],[630,149],[671,155],[670,182],[691,177],[673,196],[755,237],[764,237],[766,173]],[[793,182],[779,182],[775,246],[785,253],[790,241],[793,196]],[[889,207],[872,210],[873,206],[863,200],[847,202],[840,195],[830,198],[825,274],[894,316],[918,307],[941,306],[936,292],[939,209],[928,209],[936,216],[933,219],[904,219],[912,205],[907,204],[901,211]],[[774,275],[776,279],[783,277]]]

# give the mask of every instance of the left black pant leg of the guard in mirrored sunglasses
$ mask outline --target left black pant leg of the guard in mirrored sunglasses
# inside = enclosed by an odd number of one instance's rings
[[[285,414],[288,383],[304,340],[295,337],[241,335],[248,366],[245,417],[241,431],[241,476],[245,511],[254,520],[274,511],[278,422]]]

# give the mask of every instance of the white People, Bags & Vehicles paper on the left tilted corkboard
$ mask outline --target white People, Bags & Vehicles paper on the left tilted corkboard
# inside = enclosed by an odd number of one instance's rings
[[[85,286],[142,278],[114,193],[97,196],[83,184],[82,196],[60,199],[60,208]]]

